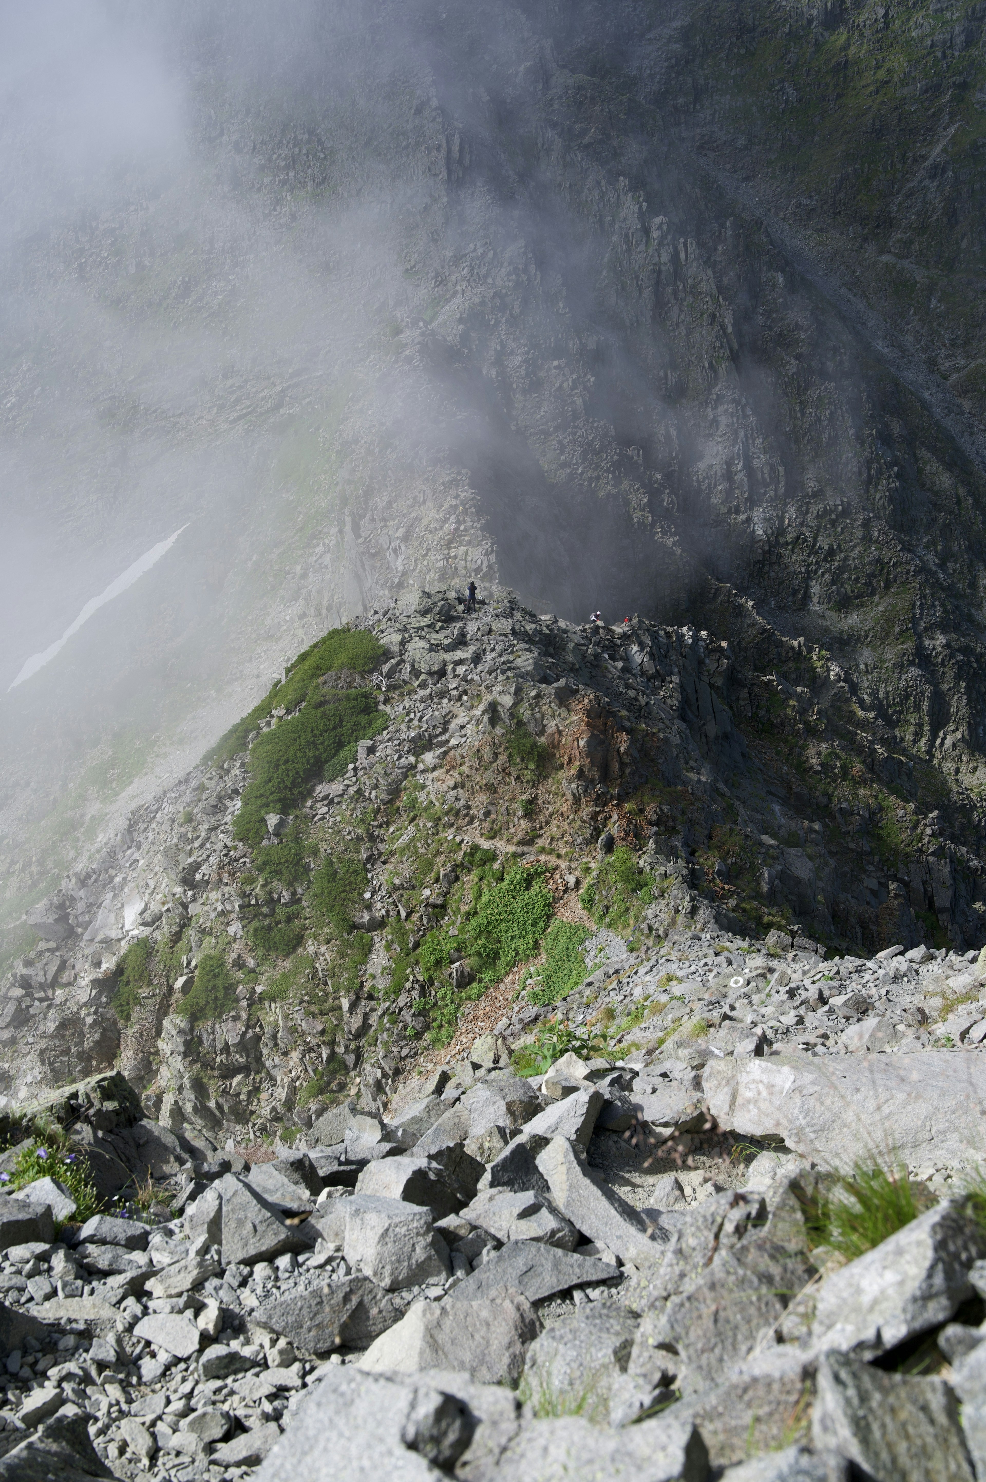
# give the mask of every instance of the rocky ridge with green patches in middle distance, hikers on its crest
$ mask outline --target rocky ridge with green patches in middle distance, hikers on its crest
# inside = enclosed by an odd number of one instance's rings
[[[316,768],[291,818],[243,837],[254,748],[294,734],[276,689],[224,760],[33,913],[43,940],[0,987],[6,1095],[119,1063],[169,1126],[249,1146],[347,1088],[378,1104],[463,1012],[469,1029],[497,1005],[486,1027],[512,1043],[559,1012],[605,1033],[630,1014],[633,1036],[646,1009],[666,1031],[727,953],[750,963],[712,999],[727,1040],[749,1020],[839,1051],[841,1014],[867,1023],[857,1048],[946,1033],[986,935],[976,811],[830,659],[750,609],[734,627],[735,648],[636,618],[580,628],[495,591],[476,617],[423,593],[368,619],[377,734],[345,771]],[[784,986],[784,1024],[770,951],[792,943],[838,962],[824,988]],[[875,974],[893,947],[910,965]],[[856,1009],[826,1005],[832,981]]]

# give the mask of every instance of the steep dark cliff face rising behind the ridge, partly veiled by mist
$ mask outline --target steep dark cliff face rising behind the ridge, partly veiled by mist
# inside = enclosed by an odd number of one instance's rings
[[[50,833],[86,765],[105,802],[331,622],[470,575],[578,619],[712,622],[731,584],[976,780],[983,53],[971,7],[881,15],[292,0],[141,33],[176,138],[6,243],[43,332],[0,427],[55,565],[110,579],[191,525],[4,704],[13,895],[30,790]],[[101,585],[25,597],[12,671]]]

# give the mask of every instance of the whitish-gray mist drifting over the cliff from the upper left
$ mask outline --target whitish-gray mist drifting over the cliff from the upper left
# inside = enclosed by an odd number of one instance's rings
[[[681,619],[857,496],[857,351],[676,160],[661,24],[0,9],[7,916],[329,625],[470,578]],[[792,431],[781,301],[839,452]]]

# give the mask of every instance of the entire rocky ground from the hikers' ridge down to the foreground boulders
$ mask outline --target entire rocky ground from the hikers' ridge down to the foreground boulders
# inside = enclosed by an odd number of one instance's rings
[[[36,911],[0,1478],[980,1476],[974,808],[749,608],[483,599],[329,633]]]

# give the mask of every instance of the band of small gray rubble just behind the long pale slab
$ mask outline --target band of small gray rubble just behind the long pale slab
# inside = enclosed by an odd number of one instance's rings
[[[750,944],[722,931],[672,929],[630,951],[615,932],[584,944],[589,975],[560,1002],[517,1000],[498,1026],[507,1042],[552,1015],[572,1026],[630,1018],[623,1040],[649,1060],[658,1043],[691,1042],[704,1057],[798,1049],[813,1057],[958,1048],[986,1040],[986,950],[903,946],[866,960],[835,956],[804,935],[772,931]],[[641,1015],[646,1015],[641,1018]],[[620,1045],[620,1039],[615,1040]]]

